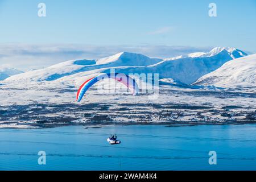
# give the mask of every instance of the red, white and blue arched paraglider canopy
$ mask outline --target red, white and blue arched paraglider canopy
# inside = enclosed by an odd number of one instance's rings
[[[94,85],[97,81],[104,80],[106,78],[113,78],[126,85],[130,92],[135,96],[139,92],[137,82],[130,76],[124,73],[101,73],[96,77],[89,78],[79,88],[76,94],[76,101],[80,102],[86,91]]]

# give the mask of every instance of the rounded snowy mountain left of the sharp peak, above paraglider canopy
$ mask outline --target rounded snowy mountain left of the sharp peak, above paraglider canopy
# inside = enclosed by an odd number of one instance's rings
[[[13,76],[6,81],[52,81],[58,78],[73,75],[80,72],[93,71],[101,68],[118,66],[144,66],[161,61],[151,59],[136,53],[121,52],[116,55],[105,57],[100,60],[70,60],[52,65],[51,67],[38,69]]]

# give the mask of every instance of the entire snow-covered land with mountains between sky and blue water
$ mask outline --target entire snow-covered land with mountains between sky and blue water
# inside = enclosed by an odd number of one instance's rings
[[[159,73],[159,85],[132,96],[123,85],[104,80],[76,102],[82,82],[110,68]],[[146,82],[134,78],[141,89],[146,88]],[[105,89],[113,84],[117,85]],[[170,59],[121,52],[99,60],[70,60],[1,81],[0,127],[255,122],[255,86],[255,55],[236,48],[218,47]]]

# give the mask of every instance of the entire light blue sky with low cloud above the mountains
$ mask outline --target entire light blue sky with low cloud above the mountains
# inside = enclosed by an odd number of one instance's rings
[[[38,16],[41,2],[46,17]],[[212,2],[216,17],[208,15]],[[121,51],[166,58],[225,46],[256,53],[255,18],[255,0],[0,0],[0,67]]]

